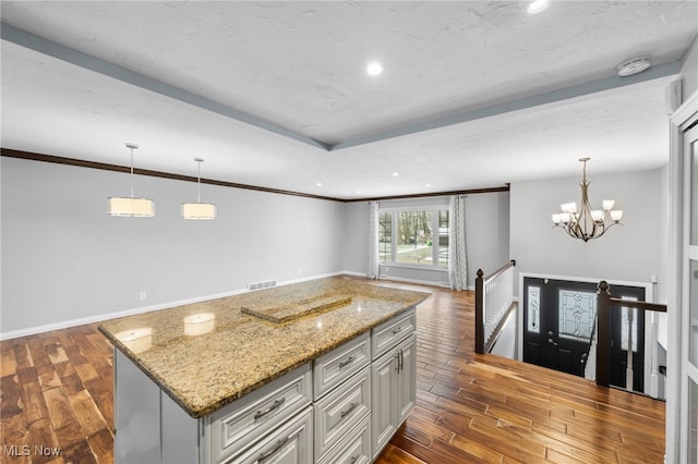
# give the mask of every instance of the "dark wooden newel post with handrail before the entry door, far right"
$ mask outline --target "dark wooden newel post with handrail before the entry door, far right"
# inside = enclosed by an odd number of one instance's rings
[[[636,302],[611,296],[609,282],[599,282],[597,301],[597,318],[599,337],[597,338],[597,384],[611,386],[611,308],[631,307],[641,310],[666,313],[666,305],[649,302]]]

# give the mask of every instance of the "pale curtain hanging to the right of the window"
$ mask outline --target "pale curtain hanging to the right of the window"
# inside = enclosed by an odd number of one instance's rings
[[[448,281],[453,290],[468,288],[465,195],[452,196],[448,208]]]

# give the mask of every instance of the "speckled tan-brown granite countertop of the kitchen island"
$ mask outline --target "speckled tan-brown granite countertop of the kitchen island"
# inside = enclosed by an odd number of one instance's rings
[[[430,295],[338,276],[112,319],[99,330],[197,418]]]

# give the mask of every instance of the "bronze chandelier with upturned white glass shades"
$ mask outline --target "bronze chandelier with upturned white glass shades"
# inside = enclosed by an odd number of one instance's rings
[[[612,225],[621,224],[621,218],[623,218],[621,209],[613,209],[615,202],[612,199],[603,200],[603,209],[591,209],[588,194],[589,182],[587,181],[587,161],[589,160],[590,158],[579,159],[579,161],[583,162],[583,175],[579,183],[581,187],[580,209],[577,210],[577,204],[574,202],[564,203],[559,205],[563,212],[552,215],[555,223],[553,227],[562,228],[569,236],[585,242],[589,242],[591,239],[599,239]],[[610,221],[607,220],[609,216]]]

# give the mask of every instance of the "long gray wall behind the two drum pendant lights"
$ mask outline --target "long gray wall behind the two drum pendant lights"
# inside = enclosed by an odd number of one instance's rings
[[[2,334],[344,268],[341,203],[203,185],[218,219],[185,221],[194,183],[136,176],[156,217],[115,218],[107,197],[128,195],[127,174],[0,160]]]

